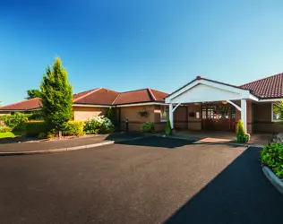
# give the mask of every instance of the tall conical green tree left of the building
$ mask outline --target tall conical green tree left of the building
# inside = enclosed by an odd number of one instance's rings
[[[52,67],[47,67],[40,85],[42,111],[49,129],[64,130],[73,118],[73,88],[68,82],[67,71],[56,57]]]

